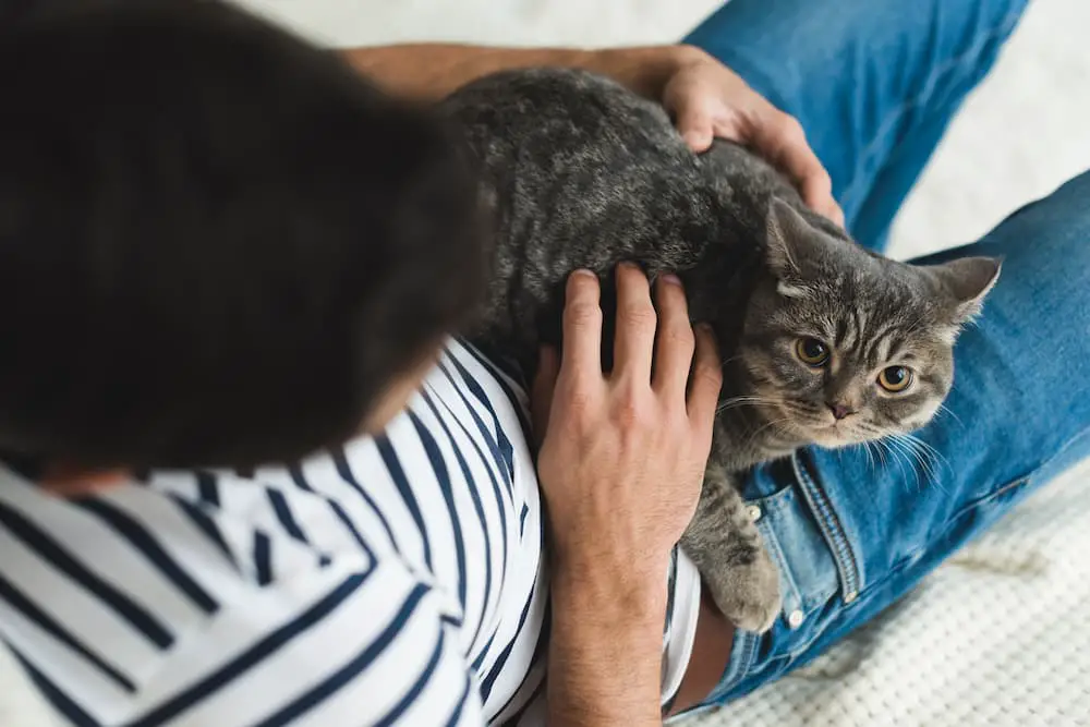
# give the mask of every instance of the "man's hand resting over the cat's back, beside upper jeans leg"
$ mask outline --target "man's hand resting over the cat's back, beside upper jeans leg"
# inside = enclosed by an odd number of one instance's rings
[[[697,153],[706,150],[714,137],[750,146],[795,180],[811,208],[843,226],[833,182],[798,120],[703,50],[682,48],[685,60],[666,82],[662,100],[686,143]]]

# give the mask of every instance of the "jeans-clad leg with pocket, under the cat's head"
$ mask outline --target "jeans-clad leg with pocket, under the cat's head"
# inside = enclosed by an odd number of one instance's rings
[[[945,411],[897,447],[808,450],[748,496],[777,555],[788,618],[742,634],[718,700],[804,664],[915,586],[1028,492],[1090,456],[1090,172],[979,243],[1004,258],[956,346]],[[794,616],[791,616],[794,614]]]

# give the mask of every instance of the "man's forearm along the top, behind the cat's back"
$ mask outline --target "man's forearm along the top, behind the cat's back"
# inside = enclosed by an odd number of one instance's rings
[[[666,81],[698,51],[688,46],[585,50],[412,44],[342,52],[353,68],[387,89],[422,99],[441,98],[496,71],[537,65],[586,69],[657,99]]]

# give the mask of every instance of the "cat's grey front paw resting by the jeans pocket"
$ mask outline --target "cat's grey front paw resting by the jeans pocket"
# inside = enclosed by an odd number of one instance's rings
[[[763,548],[752,562],[725,568],[705,582],[715,605],[743,631],[764,633],[783,608],[779,571]]]

